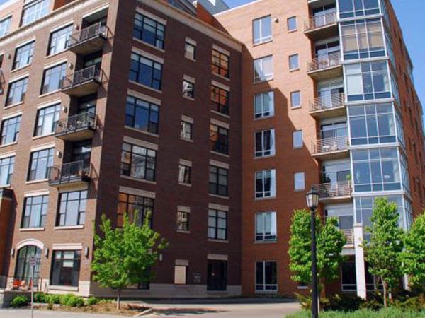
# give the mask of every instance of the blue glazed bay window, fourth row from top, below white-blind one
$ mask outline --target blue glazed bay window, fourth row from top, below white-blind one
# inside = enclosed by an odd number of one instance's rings
[[[351,145],[394,143],[397,141],[392,104],[348,107]]]

